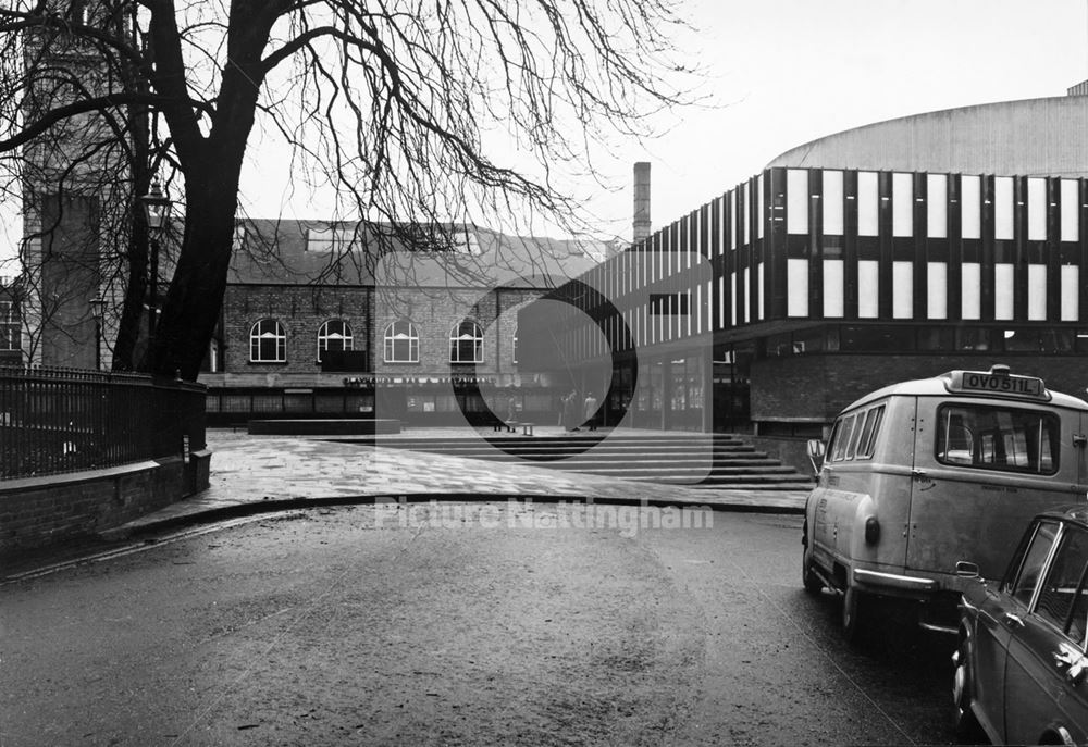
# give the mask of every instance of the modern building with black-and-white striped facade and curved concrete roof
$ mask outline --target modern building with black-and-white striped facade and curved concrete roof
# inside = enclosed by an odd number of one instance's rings
[[[522,312],[555,337],[526,362],[577,361],[614,424],[787,438],[956,368],[1081,395],[1086,157],[1079,96],[806,144]]]

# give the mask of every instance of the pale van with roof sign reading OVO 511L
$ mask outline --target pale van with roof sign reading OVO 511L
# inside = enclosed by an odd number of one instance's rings
[[[954,633],[969,576],[998,577],[1040,511],[1088,502],[1086,434],[1088,403],[1004,365],[863,397],[805,506],[805,588],[843,595],[848,637],[877,599],[923,602],[924,627]]]

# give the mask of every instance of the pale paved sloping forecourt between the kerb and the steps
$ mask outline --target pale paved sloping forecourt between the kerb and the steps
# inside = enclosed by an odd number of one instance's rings
[[[552,434],[552,431],[555,431]],[[541,435],[559,435],[558,426]],[[606,432],[581,432],[593,437]],[[625,436],[659,431],[623,429]],[[417,428],[380,436],[374,445],[314,436],[260,436],[209,429],[211,486],[160,511],[102,533],[119,538],[171,525],[308,505],[385,500],[592,500],[719,510],[799,513],[806,493],[657,485],[511,462],[491,462],[381,446],[383,439],[483,439],[491,428]],[[577,434],[574,434],[577,435]]]

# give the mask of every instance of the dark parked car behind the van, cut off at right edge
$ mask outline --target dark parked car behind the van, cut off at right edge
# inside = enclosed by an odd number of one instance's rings
[[[1088,743],[1088,508],[1037,516],[1000,581],[960,602],[952,697],[961,738]]]

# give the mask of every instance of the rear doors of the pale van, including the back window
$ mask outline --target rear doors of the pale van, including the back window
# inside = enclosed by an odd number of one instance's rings
[[[982,398],[919,397],[906,567],[986,578],[1005,570],[1031,518],[1076,500],[1080,414]]]

